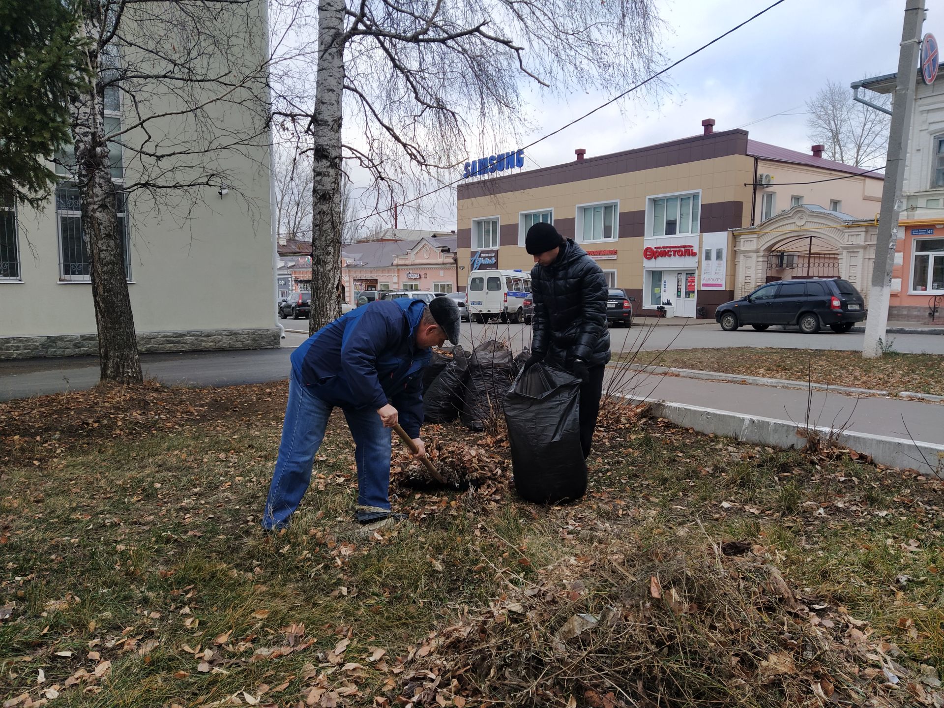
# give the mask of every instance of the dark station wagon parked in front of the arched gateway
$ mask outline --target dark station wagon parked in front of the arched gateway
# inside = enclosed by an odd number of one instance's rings
[[[797,326],[806,334],[823,327],[841,333],[862,322],[867,313],[865,300],[848,280],[813,278],[762,285],[750,295],[718,306],[715,320],[729,332],[742,325],[759,331],[783,325]]]

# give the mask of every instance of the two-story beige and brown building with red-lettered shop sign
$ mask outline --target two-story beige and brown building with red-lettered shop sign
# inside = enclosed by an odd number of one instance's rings
[[[460,265],[530,269],[525,234],[545,221],[582,244],[611,287],[635,297],[637,313],[672,304],[677,315],[710,317],[734,295],[731,229],[791,203],[824,202],[860,218],[878,211],[879,177],[823,160],[821,151],[751,141],[742,129],[715,131],[712,119],[701,125],[701,135],[681,140],[591,158],[577,150],[566,164],[464,182]],[[833,177],[851,179],[795,184]]]

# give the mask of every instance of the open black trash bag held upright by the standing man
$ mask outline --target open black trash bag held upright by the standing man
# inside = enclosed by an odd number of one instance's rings
[[[505,396],[514,488],[529,501],[556,504],[587,489],[581,447],[581,379],[536,363]]]

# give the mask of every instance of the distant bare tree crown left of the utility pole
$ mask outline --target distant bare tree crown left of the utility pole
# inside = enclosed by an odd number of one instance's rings
[[[891,94],[875,93],[869,100],[891,107]],[[891,116],[853,101],[848,87],[828,81],[806,102],[806,110],[809,138],[826,146],[830,160],[854,167],[875,167],[885,160]]]

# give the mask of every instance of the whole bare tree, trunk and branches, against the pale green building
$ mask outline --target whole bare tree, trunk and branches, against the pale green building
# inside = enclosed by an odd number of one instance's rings
[[[126,201],[184,222],[207,188],[238,193],[232,158],[269,144],[262,2],[71,0],[93,80],[69,96],[74,152],[58,162],[81,203],[103,381],[142,380]]]

